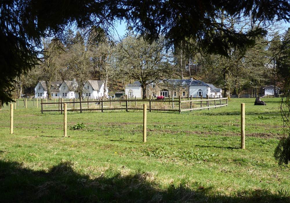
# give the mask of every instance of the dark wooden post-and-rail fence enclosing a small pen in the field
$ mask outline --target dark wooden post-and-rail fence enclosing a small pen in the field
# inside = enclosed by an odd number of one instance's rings
[[[104,110],[143,110],[143,104],[147,104],[149,112],[151,111],[173,111],[173,112],[184,112],[192,110],[218,108],[228,105],[228,98],[194,98],[193,97],[179,97],[171,98],[169,100],[157,100],[151,99],[105,99],[100,98],[99,100],[76,101],[76,99],[70,99],[69,101],[62,101],[59,99],[58,102],[43,102],[41,99],[41,113],[58,111],[61,114],[64,111],[64,104],[67,104],[67,111],[102,111]]]

